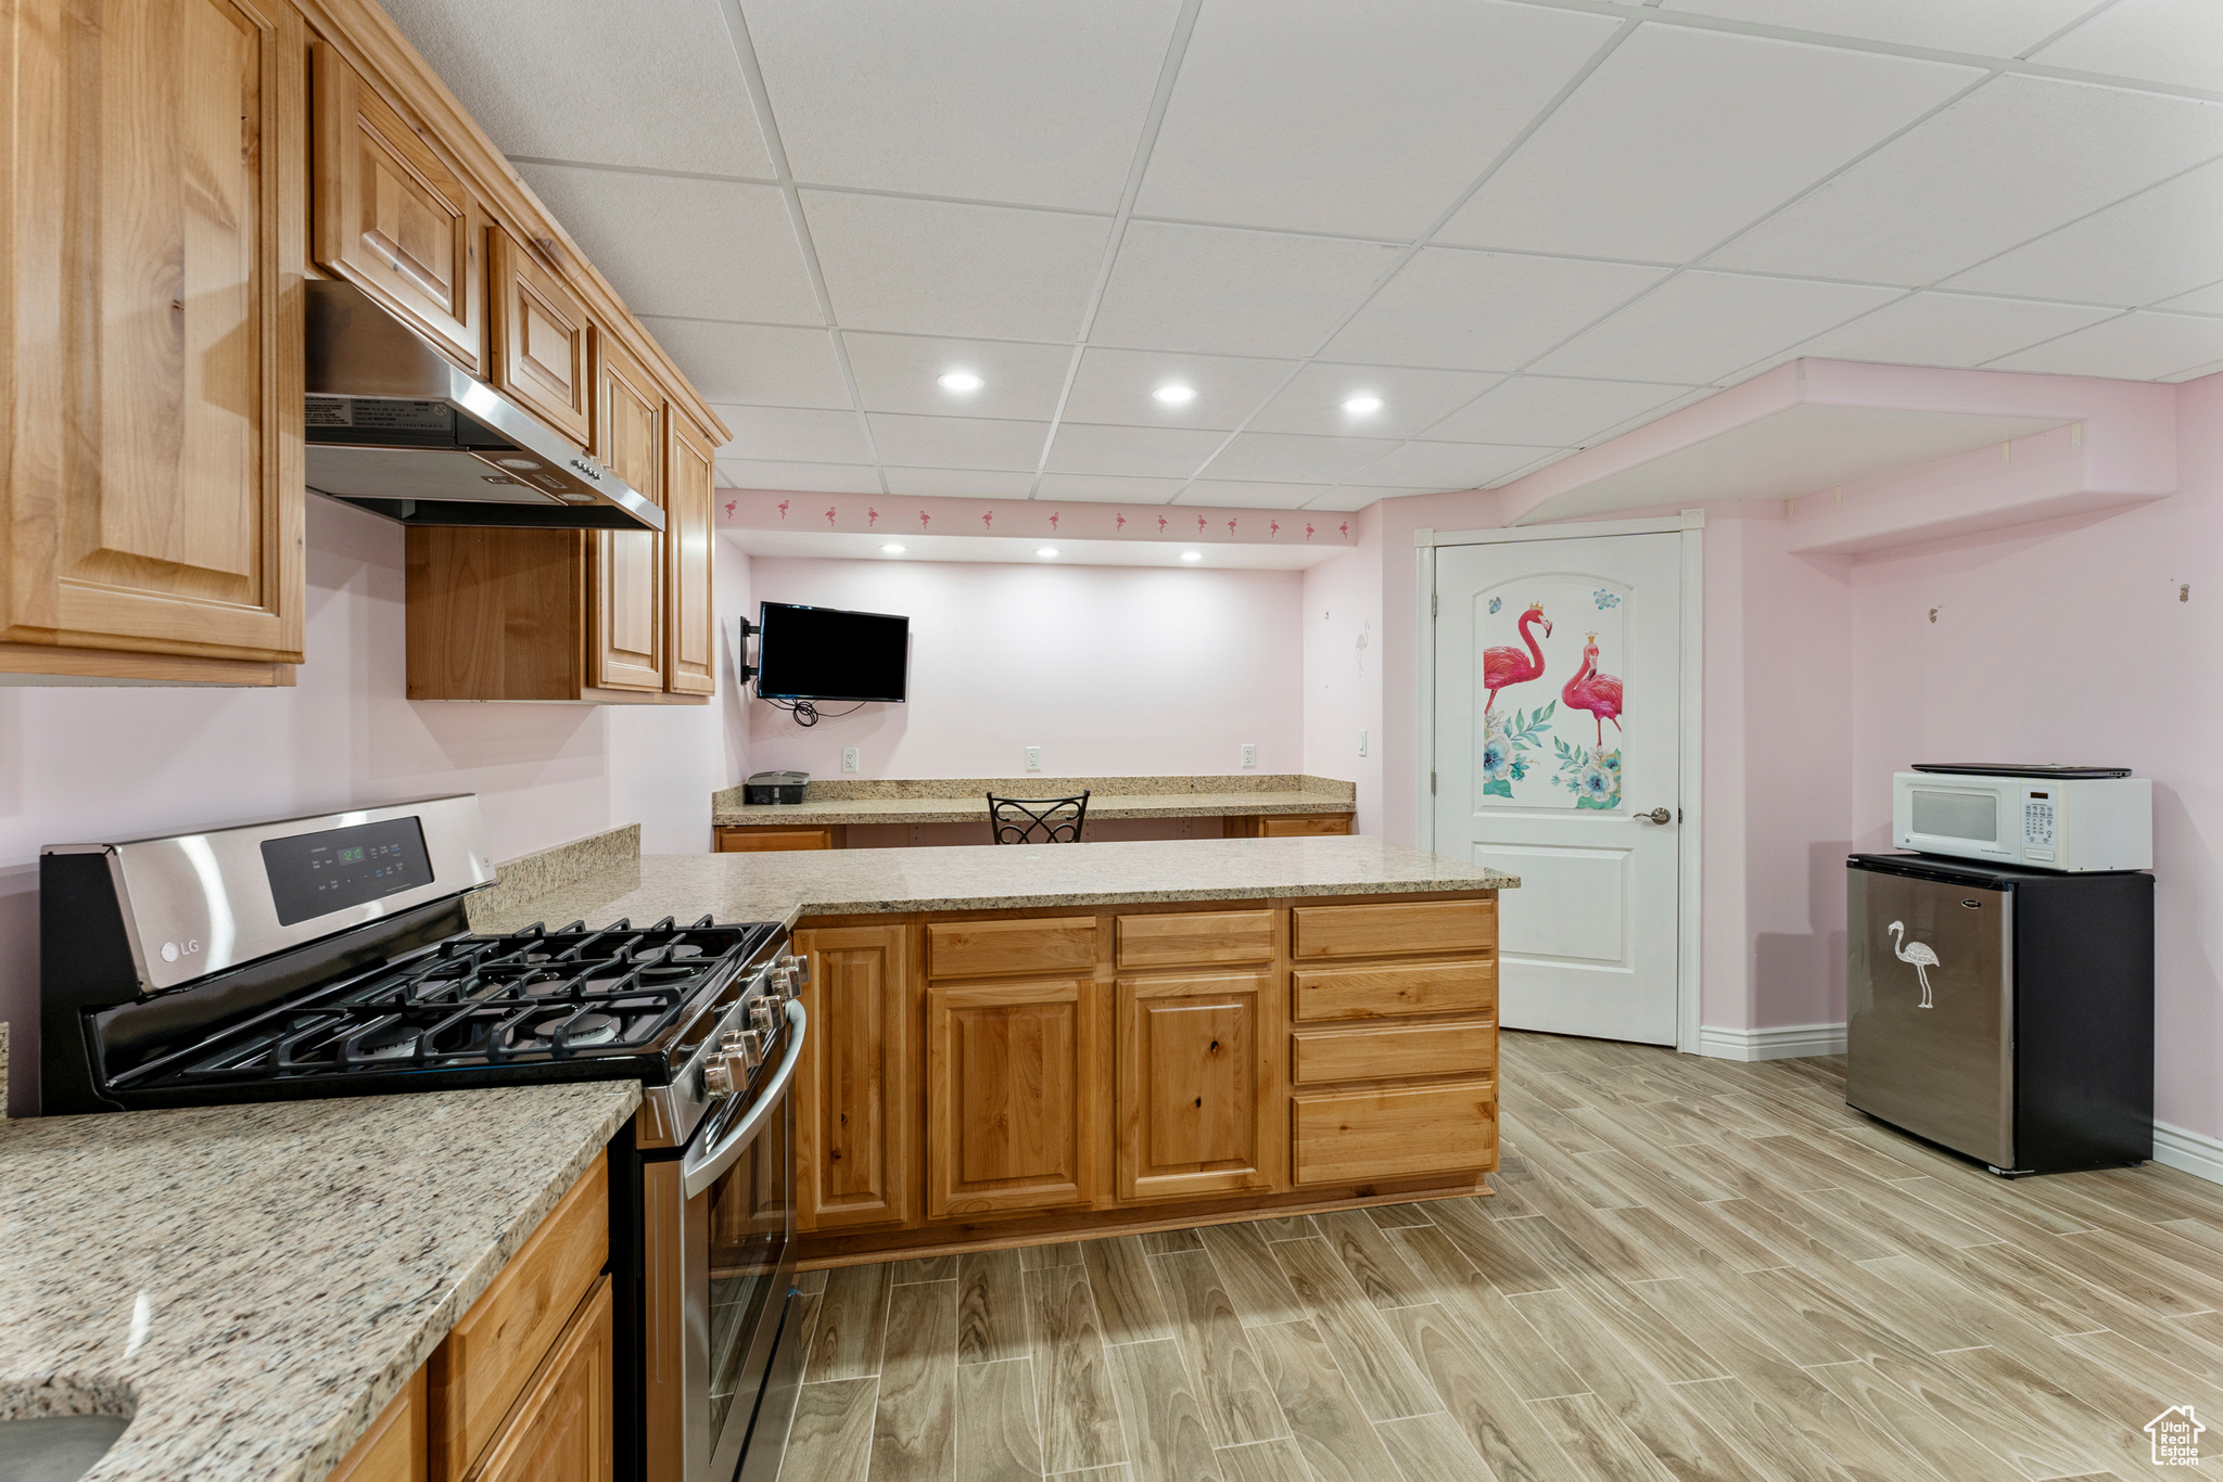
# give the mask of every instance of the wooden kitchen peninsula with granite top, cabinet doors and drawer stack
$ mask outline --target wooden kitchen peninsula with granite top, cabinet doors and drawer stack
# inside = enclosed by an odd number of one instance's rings
[[[647,855],[473,924],[789,924],[831,1264],[1476,1193],[1518,884],[1374,838]]]

